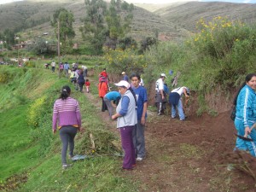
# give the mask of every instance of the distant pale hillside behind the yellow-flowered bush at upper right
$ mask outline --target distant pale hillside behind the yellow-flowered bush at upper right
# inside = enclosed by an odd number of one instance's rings
[[[228,16],[231,20],[248,23],[256,21],[256,4],[247,3],[201,3],[189,2],[173,4],[154,12],[177,26],[195,32],[196,21],[204,18],[212,20],[215,16]]]

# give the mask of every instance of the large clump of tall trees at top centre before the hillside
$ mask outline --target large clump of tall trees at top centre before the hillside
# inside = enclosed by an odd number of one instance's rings
[[[115,49],[118,39],[124,38],[131,28],[133,5],[112,0],[107,9],[102,0],[85,0],[85,9],[84,26],[79,29],[84,40],[88,39],[98,53],[103,44]]]

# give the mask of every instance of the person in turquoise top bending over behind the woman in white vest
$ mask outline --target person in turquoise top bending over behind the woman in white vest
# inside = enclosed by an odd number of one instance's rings
[[[117,106],[119,104],[120,98],[121,98],[121,94],[118,91],[110,91],[103,98],[104,102],[108,107],[108,113],[109,113],[110,119],[113,115],[113,106],[114,105]]]

